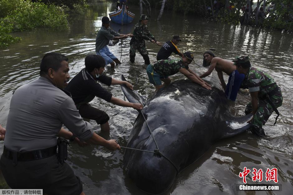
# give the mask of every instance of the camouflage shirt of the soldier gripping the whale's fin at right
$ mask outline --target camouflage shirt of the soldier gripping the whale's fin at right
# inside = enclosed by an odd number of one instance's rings
[[[269,74],[258,68],[251,67],[245,79],[249,91],[259,91],[259,97],[265,96],[277,87],[276,81]]]

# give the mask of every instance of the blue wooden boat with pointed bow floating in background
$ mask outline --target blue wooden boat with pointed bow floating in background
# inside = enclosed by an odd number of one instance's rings
[[[117,23],[117,24],[128,24],[133,21],[135,14],[132,12],[129,12],[128,9],[126,9],[125,5],[122,5],[122,8],[109,13],[109,17],[111,18],[111,21]]]

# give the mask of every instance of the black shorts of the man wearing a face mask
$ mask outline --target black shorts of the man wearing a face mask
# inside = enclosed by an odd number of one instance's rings
[[[110,119],[104,111],[92,107],[90,104],[78,104],[77,109],[82,118],[88,118],[97,121],[98,124],[105,124]]]

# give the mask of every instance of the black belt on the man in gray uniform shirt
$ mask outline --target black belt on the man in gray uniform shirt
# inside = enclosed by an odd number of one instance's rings
[[[35,150],[30,152],[14,152],[7,149],[4,146],[3,156],[13,160],[13,165],[16,165],[17,161],[38,160],[38,159],[53,156],[56,154],[56,150],[57,150],[57,145],[50,148]]]

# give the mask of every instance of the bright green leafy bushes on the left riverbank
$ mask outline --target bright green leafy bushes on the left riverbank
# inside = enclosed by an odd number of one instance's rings
[[[69,28],[70,15],[83,14],[85,0],[70,1],[2,0],[0,4],[0,48],[18,42],[21,37],[13,37],[11,32],[37,28],[62,31]],[[58,4],[59,3],[59,4]]]

